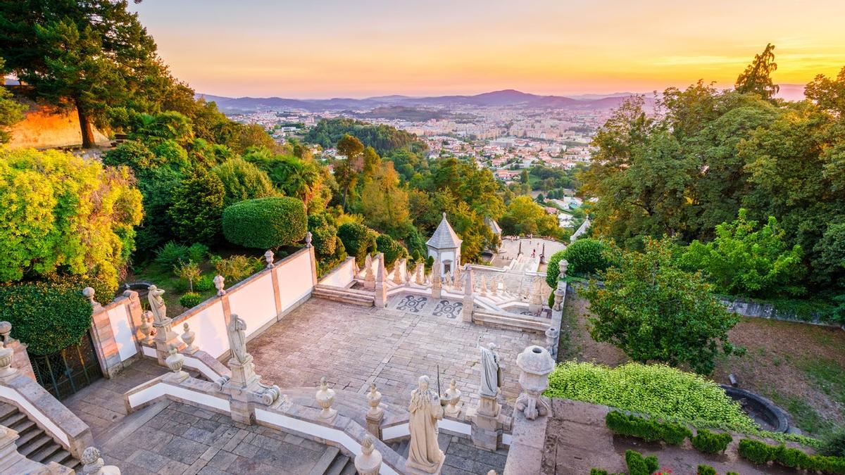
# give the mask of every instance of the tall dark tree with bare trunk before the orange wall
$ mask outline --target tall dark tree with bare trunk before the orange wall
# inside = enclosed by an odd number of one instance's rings
[[[0,29],[8,68],[39,98],[76,109],[84,147],[112,109],[144,102],[161,84],[155,42],[126,1],[4,2]]]

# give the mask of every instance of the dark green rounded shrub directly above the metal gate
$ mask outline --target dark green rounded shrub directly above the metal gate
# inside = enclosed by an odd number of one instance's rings
[[[34,355],[49,355],[79,343],[91,326],[91,305],[79,279],[0,285],[0,320]],[[108,294],[100,295],[105,300]]]

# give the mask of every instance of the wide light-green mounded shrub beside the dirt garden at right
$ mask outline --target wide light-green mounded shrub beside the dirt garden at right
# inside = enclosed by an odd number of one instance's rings
[[[561,363],[548,378],[546,396],[643,412],[703,427],[759,429],[711,380],[660,364],[628,363],[610,369]]]

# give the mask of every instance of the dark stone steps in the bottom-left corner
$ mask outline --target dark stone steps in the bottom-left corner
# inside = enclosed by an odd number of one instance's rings
[[[64,450],[62,445],[30,421],[30,418],[20,412],[17,407],[0,402],[0,425],[18,432],[19,439],[15,440],[18,451],[31,461],[38,461],[45,465],[55,461],[77,472],[82,469],[82,465],[70,455],[68,450]]]

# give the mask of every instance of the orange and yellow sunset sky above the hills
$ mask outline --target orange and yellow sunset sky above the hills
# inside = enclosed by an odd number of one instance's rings
[[[766,43],[781,84],[845,67],[842,0],[144,0],[194,90],[292,98],[733,85]]]

